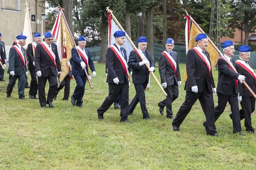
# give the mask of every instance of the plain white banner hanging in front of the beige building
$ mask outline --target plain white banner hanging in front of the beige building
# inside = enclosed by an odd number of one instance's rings
[[[23,47],[25,48],[25,50],[27,50],[29,43],[33,42],[32,31],[30,26],[29,10],[30,9],[28,8],[28,4],[26,2],[25,20],[24,20],[24,27],[23,27],[23,35],[27,37],[26,45],[24,45]]]

